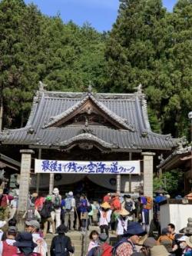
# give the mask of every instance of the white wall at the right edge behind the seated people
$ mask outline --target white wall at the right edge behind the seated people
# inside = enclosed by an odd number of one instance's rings
[[[161,228],[173,223],[176,232],[187,227],[187,218],[192,217],[192,204],[163,204],[160,207]]]

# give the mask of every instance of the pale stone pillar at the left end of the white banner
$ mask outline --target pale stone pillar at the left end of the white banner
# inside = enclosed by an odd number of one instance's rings
[[[22,165],[19,181],[19,194],[18,194],[18,231],[24,231],[25,222],[22,218],[25,211],[28,208],[28,192],[30,184],[30,171],[31,171],[31,155],[34,154],[34,151],[31,149],[22,149]]]

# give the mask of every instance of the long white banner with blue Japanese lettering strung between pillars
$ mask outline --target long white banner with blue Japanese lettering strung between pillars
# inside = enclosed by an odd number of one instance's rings
[[[57,161],[35,159],[35,173],[140,175],[140,161]]]

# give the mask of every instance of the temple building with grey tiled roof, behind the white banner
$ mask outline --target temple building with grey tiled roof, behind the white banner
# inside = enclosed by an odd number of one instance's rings
[[[45,91],[40,83],[24,128],[0,132],[0,151],[30,161],[31,188],[51,191],[104,191],[153,194],[157,158],[177,148],[179,139],[151,131],[141,86],[133,94]],[[15,157],[13,157],[15,155]],[[30,157],[29,157],[30,155]],[[10,156],[10,155],[8,155]],[[63,161],[141,161],[139,175],[34,174],[34,159]],[[155,164],[154,164],[155,163]],[[24,165],[24,164],[23,164]],[[26,168],[25,165],[24,169]],[[23,170],[24,170],[23,169]],[[26,170],[23,171],[25,177]],[[22,174],[22,172],[21,172]],[[26,176],[28,177],[28,176]],[[25,177],[25,178],[26,178]],[[21,177],[22,179],[22,177]],[[21,185],[22,183],[20,183]]]

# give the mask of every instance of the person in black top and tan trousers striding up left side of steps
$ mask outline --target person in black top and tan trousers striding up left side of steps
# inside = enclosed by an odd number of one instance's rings
[[[54,211],[53,203],[52,203],[51,195],[48,195],[45,198],[45,203],[43,204],[43,208],[40,212],[42,224],[44,225],[43,228],[43,237],[45,238],[47,231],[48,231],[48,222],[52,224],[52,231],[55,234],[55,221],[51,218],[51,211]]]

